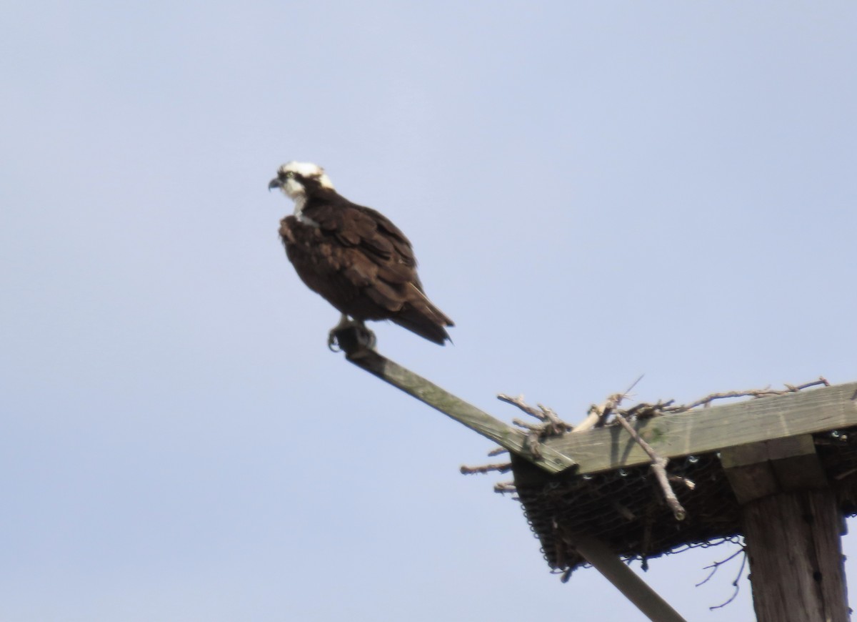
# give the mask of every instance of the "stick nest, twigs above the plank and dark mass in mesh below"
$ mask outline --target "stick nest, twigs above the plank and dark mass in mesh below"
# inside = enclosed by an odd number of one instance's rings
[[[635,383],[636,384],[636,383]],[[695,402],[677,405],[673,400],[640,402],[627,408],[630,388],[590,407],[584,420],[572,426],[552,408],[524,402],[524,396],[498,399],[518,408],[535,421],[513,420],[537,451],[546,438],[573,434],[596,426],[622,426],[650,457],[648,465],[620,468],[598,474],[563,473],[547,477],[518,456],[507,462],[461,467],[464,474],[513,471],[518,484],[504,481],[495,492],[512,493],[524,505],[530,528],[541,540],[542,553],[553,571],[567,580],[584,559],[573,547],[573,534],[592,534],[615,553],[630,561],[690,547],[710,547],[740,538],[740,505],[729,486],[719,454],[685,456],[668,461],[658,456],[634,431],[632,422],[651,417],[707,408],[716,400],[751,397],[763,399],[830,384],[823,377],[811,383],[712,393]],[[814,435],[819,458],[831,481],[841,482],[837,494],[846,513],[857,513],[857,429]],[[853,440],[852,440],[853,439]],[[505,450],[493,450],[497,456]],[[536,474],[536,478],[527,477]],[[538,483],[523,483],[533,482]]]

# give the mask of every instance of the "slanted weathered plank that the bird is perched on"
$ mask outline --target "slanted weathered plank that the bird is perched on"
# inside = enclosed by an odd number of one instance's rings
[[[494,443],[519,456],[523,456],[548,473],[560,473],[560,471],[576,464],[570,457],[545,444],[539,445],[536,454],[530,448],[529,440],[524,432],[453,396],[452,393],[441,389],[424,377],[418,376],[413,371],[381,356],[375,350],[359,349],[348,354],[346,358],[361,369],[369,371],[376,377],[380,377],[381,380],[405,391],[408,395],[416,397],[417,400],[440,410],[441,413],[464,424],[470,430],[490,438]]]

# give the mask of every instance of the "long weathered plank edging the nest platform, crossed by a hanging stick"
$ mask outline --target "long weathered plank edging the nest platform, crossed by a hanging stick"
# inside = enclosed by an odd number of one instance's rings
[[[669,414],[638,421],[636,429],[670,458],[848,426],[857,426],[857,383]],[[572,456],[582,474],[650,462],[619,426],[566,434],[545,445]]]

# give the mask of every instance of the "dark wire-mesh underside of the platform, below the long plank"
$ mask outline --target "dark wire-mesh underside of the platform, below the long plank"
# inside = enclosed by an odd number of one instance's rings
[[[819,432],[812,439],[843,515],[857,515],[857,427]],[[514,457],[512,473],[548,565],[573,571],[584,565],[573,545],[576,534],[596,536],[623,559],[641,560],[740,536],[741,504],[721,458],[720,452],[710,452],[669,462],[669,474],[695,484],[693,490],[674,485],[687,511],[680,522],[664,503],[648,465],[548,475]]]

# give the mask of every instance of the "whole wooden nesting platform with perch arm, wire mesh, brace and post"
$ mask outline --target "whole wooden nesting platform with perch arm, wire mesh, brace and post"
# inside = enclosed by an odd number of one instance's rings
[[[333,336],[351,363],[509,451],[518,498],[556,571],[591,563],[650,619],[678,622],[620,559],[710,546],[746,531],[760,621],[848,619],[838,534],[844,517],[857,514],[857,383],[788,386],[776,392],[785,395],[693,408],[726,396],[716,394],[681,412],[650,408],[655,416],[536,441],[349,330]]]

